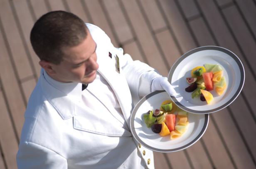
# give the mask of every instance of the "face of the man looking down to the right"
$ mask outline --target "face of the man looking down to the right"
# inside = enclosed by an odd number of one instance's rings
[[[91,83],[96,78],[98,69],[96,43],[87,30],[87,37],[79,45],[64,48],[63,61],[52,65],[53,78],[60,82]]]

